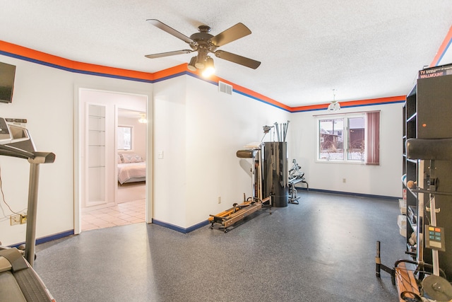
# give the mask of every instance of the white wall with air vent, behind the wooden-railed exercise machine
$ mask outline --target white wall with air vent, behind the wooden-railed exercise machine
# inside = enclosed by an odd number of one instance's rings
[[[243,202],[244,193],[251,197],[251,160],[237,158],[236,152],[261,141],[264,125],[289,117],[284,110],[187,77],[186,226]]]

